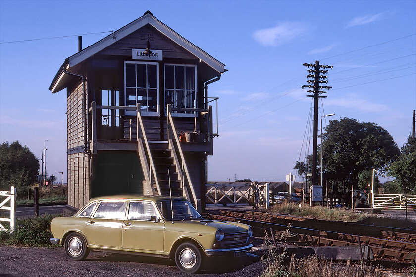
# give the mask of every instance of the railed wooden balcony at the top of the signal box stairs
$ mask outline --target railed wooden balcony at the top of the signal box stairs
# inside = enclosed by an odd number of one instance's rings
[[[218,136],[213,134],[212,106],[208,109],[185,109],[171,108],[168,105],[166,111],[171,118],[169,123],[169,116],[143,116],[140,110],[140,105],[98,106],[92,102],[89,109],[89,134],[91,134],[89,143],[92,154],[103,150],[137,151],[138,139],[144,138],[149,143],[164,144],[167,143],[168,137],[173,135],[172,130],[175,130],[176,138],[180,137],[181,132],[187,133],[186,137],[189,141],[181,142],[184,152],[206,152],[212,155],[212,140],[213,137]],[[136,116],[125,115],[126,111],[134,111]],[[183,114],[187,116],[181,116]]]

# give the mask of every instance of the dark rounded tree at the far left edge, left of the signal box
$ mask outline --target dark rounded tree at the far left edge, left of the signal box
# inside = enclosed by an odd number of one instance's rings
[[[36,182],[38,169],[38,159],[19,141],[0,145],[0,189],[9,190],[14,186],[18,194],[26,191]]]

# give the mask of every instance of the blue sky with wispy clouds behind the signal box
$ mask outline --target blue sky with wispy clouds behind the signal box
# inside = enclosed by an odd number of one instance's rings
[[[0,0],[0,143],[19,140],[40,157],[47,139],[48,173],[66,180],[66,93],[48,90],[52,78],[78,35],[115,31],[146,10],[229,70],[208,88],[220,98],[209,181],[295,174],[312,139],[302,64],[316,60],[334,66],[319,116],[375,122],[399,147],[411,133],[415,0]],[[107,34],[83,35],[83,47]]]

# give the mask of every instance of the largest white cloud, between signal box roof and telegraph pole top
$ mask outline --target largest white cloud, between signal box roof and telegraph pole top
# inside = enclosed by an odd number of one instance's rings
[[[309,30],[300,22],[285,22],[272,28],[257,30],[253,38],[263,46],[278,46],[288,43]]]

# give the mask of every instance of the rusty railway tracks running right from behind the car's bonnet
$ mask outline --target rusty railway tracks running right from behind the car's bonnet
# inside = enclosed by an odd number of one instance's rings
[[[375,260],[412,262],[416,258],[416,233],[413,230],[367,226],[347,222],[315,220],[287,215],[268,214],[257,211],[212,211],[212,219],[241,221],[250,224],[258,234],[273,230],[276,237],[285,232],[298,234],[297,243],[318,246],[369,246]],[[343,230],[340,232],[339,230]],[[346,233],[348,232],[348,233]]]

